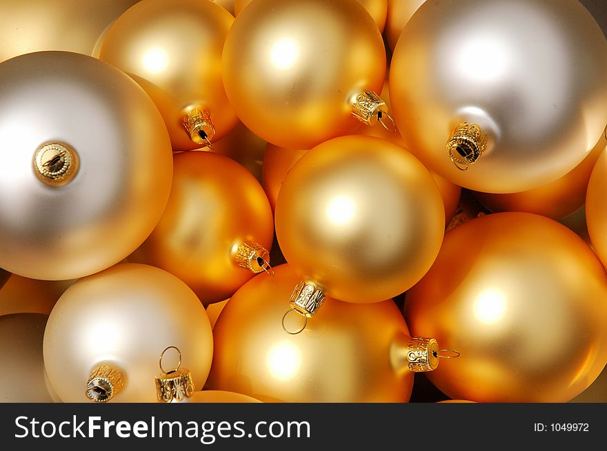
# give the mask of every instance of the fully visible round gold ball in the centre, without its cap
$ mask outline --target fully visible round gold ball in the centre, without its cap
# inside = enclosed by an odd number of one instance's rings
[[[406,150],[342,136],[292,167],[276,204],[280,249],[302,280],[348,302],[377,302],[415,284],[436,258],[444,207],[430,172]]]

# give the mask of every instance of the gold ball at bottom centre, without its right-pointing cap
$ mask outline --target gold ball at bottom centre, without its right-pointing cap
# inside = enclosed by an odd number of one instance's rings
[[[288,335],[281,318],[298,277],[288,265],[275,271],[256,275],[221,312],[208,388],[266,402],[409,400],[409,334],[394,302],[327,298],[305,331]]]

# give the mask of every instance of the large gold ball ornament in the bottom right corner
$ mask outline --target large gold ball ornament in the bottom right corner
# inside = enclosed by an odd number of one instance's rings
[[[459,359],[428,378],[452,399],[564,402],[607,363],[607,274],[558,222],[495,213],[446,233],[405,299],[412,334]]]

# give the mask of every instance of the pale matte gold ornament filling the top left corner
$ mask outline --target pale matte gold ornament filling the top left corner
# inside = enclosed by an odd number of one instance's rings
[[[0,62],[42,50],[92,54],[99,35],[138,0],[3,0]]]

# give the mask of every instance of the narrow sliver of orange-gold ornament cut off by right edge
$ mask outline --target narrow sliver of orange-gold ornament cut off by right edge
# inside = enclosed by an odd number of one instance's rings
[[[595,252],[607,268],[607,149],[595,163],[586,192],[586,224]]]

